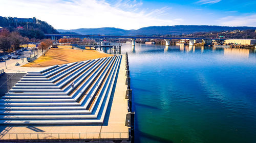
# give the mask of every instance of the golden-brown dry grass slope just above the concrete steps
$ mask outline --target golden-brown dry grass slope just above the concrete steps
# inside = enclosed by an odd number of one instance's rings
[[[70,49],[69,46],[60,46],[59,48],[51,48],[45,56],[40,56],[34,62],[23,65],[23,67],[47,67],[106,56],[112,56],[112,54],[101,53],[96,50],[76,50]]]

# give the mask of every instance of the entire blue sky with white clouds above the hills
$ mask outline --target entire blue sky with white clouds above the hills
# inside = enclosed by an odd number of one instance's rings
[[[0,16],[36,17],[56,29],[255,26],[255,0],[0,0]]]

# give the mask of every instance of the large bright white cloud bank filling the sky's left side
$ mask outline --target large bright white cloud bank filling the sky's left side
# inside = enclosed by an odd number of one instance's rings
[[[118,1],[115,5],[104,0],[8,0],[1,1],[1,16],[36,17],[55,28],[118,27],[127,30],[152,25],[174,25],[179,21],[158,18],[169,9],[140,10],[136,1]],[[130,10],[131,9],[131,10]]]

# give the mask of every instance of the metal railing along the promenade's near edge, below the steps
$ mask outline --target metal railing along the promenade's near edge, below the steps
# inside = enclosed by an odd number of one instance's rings
[[[6,133],[0,140],[8,139],[126,139],[129,132],[92,132],[92,133]]]

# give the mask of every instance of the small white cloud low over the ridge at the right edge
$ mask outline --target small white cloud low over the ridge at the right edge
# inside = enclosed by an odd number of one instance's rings
[[[256,26],[256,14],[247,16],[227,16],[217,20],[225,26]]]

